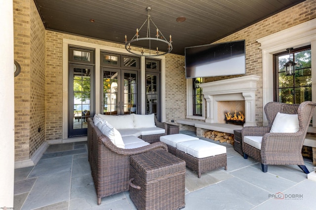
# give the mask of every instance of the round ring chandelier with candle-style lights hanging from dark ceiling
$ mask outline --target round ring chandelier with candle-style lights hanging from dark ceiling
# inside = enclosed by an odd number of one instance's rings
[[[151,7],[146,7],[146,11],[148,12],[147,14],[147,19],[146,21],[143,23],[143,25],[138,29],[136,29],[136,33],[133,36],[133,38],[129,41],[127,41],[127,36],[125,35],[125,49],[131,53],[134,54],[136,56],[144,56],[144,57],[154,57],[154,56],[162,56],[165,55],[167,53],[170,53],[172,51],[172,41],[171,41],[171,35],[170,40],[167,41],[167,39],[164,37],[164,35],[162,34],[162,32],[158,29],[158,27],[156,26],[156,24],[154,23],[154,21],[151,19],[151,16],[149,14],[149,12],[152,10]],[[143,28],[143,26],[145,25],[145,23],[147,22],[147,33],[146,33],[146,37],[140,37],[139,33],[140,30]],[[155,27],[156,27],[156,38],[155,37],[151,37],[151,28],[150,28],[150,23],[152,23]],[[149,55],[144,55],[144,49],[142,48],[141,52],[138,51],[132,51],[131,48],[131,43],[133,42],[139,42],[141,43],[142,41],[146,41],[148,40],[148,49],[149,49]],[[163,42],[166,44],[166,52],[159,52],[158,51],[158,46],[152,46],[152,42],[156,43],[157,45],[160,42]],[[155,51],[155,53],[153,54],[152,51]]]

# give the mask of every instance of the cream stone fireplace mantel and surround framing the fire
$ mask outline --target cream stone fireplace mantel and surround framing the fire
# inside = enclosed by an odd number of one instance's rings
[[[249,75],[227,80],[200,84],[206,99],[205,122],[217,123],[218,101],[245,101],[245,123],[243,126],[256,126],[255,91],[260,76]]]

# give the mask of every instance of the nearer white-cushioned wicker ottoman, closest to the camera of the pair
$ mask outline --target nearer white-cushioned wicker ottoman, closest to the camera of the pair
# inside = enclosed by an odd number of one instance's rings
[[[185,160],[187,167],[201,173],[225,167],[227,170],[226,147],[204,140],[179,142],[176,145],[176,156]]]

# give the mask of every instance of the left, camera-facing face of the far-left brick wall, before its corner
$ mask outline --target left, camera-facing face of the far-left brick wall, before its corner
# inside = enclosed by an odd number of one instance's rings
[[[13,2],[14,59],[21,73],[14,78],[15,160],[29,158],[30,147],[30,2]]]

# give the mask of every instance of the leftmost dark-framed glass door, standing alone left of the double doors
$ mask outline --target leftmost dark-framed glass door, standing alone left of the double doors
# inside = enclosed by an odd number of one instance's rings
[[[94,66],[69,64],[68,137],[87,135],[87,118],[94,115]]]

